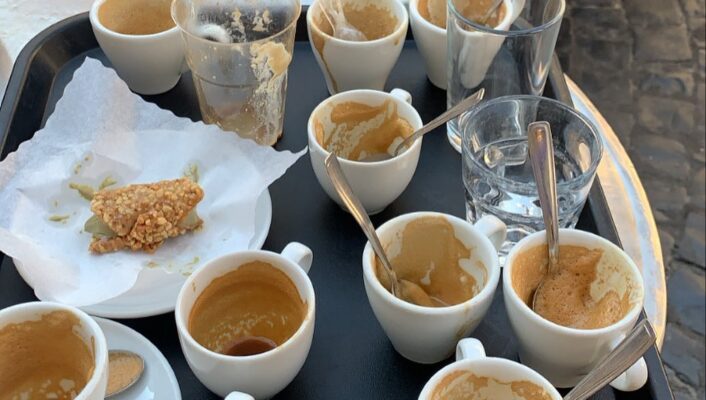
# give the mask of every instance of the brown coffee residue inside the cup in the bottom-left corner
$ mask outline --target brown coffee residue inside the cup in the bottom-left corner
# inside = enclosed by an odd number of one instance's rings
[[[73,399],[93,374],[93,348],[68,311],[0,328],[0,399]]]

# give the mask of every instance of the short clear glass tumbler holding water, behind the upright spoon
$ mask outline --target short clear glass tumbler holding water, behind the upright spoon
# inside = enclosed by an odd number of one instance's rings
[[[508,238],[502,255],[544,229],[527,149],[527,127],[535,121],[551,125],[562,228],[576,226],[603,153],[586,117],[545,97],[500,97],[461,116],[466,218],[475,222],[490,214],[505,222]]]

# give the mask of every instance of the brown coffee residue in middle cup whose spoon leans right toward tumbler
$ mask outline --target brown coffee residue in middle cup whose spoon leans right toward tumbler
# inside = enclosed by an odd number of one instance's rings
[[[323,118],[314,121],[316,140],[321,147],[339,157],[366,161],[389,154],[390,147],[414,132],[412,125],[399,116],[397,103],[385,100],[379,106],[343,102],[328,111],[330,124]],[[330,126],[327,126],[330,125]]]

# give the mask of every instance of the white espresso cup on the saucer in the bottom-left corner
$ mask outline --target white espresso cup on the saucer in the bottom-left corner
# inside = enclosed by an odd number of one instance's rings
[[[103,400],[108,346],[83,311],[51,302],[0,311],[0,394],[8,399]]]

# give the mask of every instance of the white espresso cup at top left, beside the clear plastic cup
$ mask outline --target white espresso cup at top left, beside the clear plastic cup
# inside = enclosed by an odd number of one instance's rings
[[[136,93],[173,88],[188,70],[170,0],[96,0],[89,19],[111,65]]]

